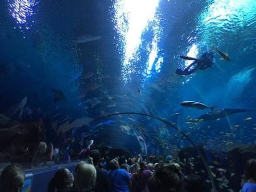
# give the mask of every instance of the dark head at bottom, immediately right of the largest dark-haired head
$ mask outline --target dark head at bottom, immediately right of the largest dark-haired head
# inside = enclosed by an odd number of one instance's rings
[[[184,189],[186,192],[203,192],[204,185],[202,178],[195,174],[185,176],[183,180]]]

